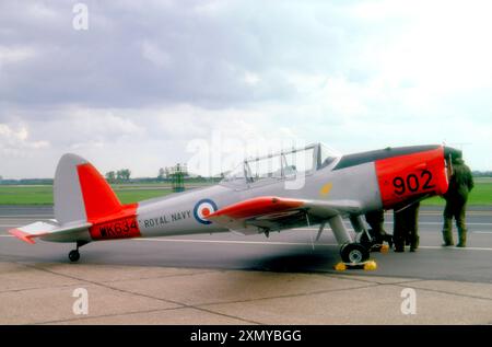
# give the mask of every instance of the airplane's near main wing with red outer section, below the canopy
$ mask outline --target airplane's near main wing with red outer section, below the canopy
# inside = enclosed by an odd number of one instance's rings
[[[272,196],[257,197],[224,207],[207,217],[243,234],[317,224],[337,215],[360,213],[353,200],[305,200]]]

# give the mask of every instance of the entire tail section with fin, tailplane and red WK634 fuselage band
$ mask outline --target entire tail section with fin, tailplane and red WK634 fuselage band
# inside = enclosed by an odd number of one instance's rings
[[[9,232],[27,243],[34,243],[34,238],[90,242],[140,235],[137,204],[121,205],[97,170],[75,154],[65,154],[58,163],[54,198],[56,220],[35,222]],[[115,219],[118,221],[114,222]]]

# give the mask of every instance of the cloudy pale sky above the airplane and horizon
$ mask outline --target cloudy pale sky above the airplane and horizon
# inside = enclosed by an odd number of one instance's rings
[[[492,170],[490,1],[85,1],[86,31],[75,3],[0,1],[3,177],[282,141],[445,142]]]

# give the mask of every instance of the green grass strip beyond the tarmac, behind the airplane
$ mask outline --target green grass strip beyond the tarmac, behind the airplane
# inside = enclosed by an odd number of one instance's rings
[[[194,185],[197,187],[197,185]],[[155,184],[115,185],[113,187],[122,204],[130,204],[172,194],[169,186]],[[423,205],[444,205],[444,199],[433,197]],[[492,205],[492,181],[476,180],[469,205]],[[0,205],[52,205],[52,186],[1,186]]]

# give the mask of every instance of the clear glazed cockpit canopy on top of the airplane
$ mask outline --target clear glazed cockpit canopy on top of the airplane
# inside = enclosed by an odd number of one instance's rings
[[[341,155],[331,148],[314,143],[301,149],[290,149],[277,154],[247,159],[231,171],[222,184],[242,186],[256,182],[274,182],[295,178],[297,174],[312,174],[330,166]]]

